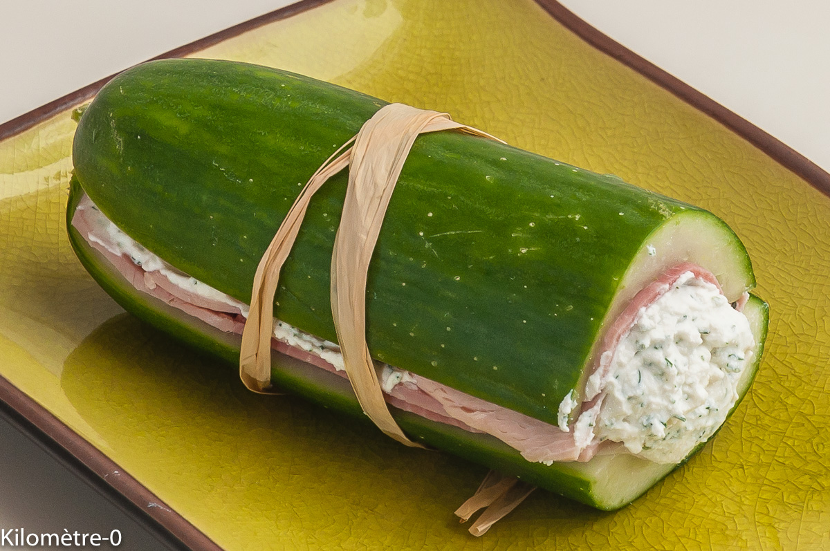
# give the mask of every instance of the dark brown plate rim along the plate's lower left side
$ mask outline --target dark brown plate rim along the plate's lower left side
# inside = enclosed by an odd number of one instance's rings
[[[188,549],[222,551],[222,548],[213,543],[207,535],[190,524],[182,515],[176,513],[173,508],[160,500],[159,496],[144,487],[139,480],[134,479],[115,461],[105,456],[98,448],[2,376],[0,376],[0,414],[4,414],[13,426],[36,441],[67,469],[81,477],[82,480],[86,480],[95,490],[100,491],[110,501],[114,501],[115,506],[125,510],[145,528],[159,535],[158,527],[153,526],[148,519],[142,519],[139,514],[144,514],[145,517],[149,517],[154,523],[167,530],[174,539],[180,542],[179,546],[184,544]],[[61,453],[61,451],[66,453]],[[77,463],[72,461],[73,458]],[[118,476],[110,476],[115,471]],[[117,494],[124,496],[138,510],[118,503],[117,495],[102,491],[105,487],[110,487]]]

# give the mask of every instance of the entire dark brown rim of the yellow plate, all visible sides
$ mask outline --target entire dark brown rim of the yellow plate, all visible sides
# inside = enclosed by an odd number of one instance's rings
[[[173,50],[165,51],[159,54],[159,56],[154,56],[147,61],[187,56],[229,38],[237,37],[257,27],[265,26],[271,22],[281,21],[282,19],[292,17],[333,1],[300,0],[289,6],[281,7],[280,9],[233,25],[232,27],[227,27],[219,32],[212,33],[207,37],[189,42]],[[564,7],[560,2],[556,0],[534,0],[534,2],[550,17],[553,17],[556,22],[559,22],[559,24],[568,29],[569,32],[573,32],[575,36],[587,42],[589,46],[593,46],[598,51],[602,51],[604,54],[613,57],[613,59],[622,63],[624,66],[636,71],[639,75],[646,77],[647,80],[651,80],[664,90],[675,95],[687,105],[691,105],[691,107],[701,113],[709,115],[712,119],[723,124],[727,129],[730,129],[741,138],[746,139],[776,163],[795,173],[799,178],[813,186],[813,188],[818,189],[819,192],[830,197],[830,173],[819,167],[818,164],[813,163],[813,161],[806,158],[803,154],[798,153],[795,149],[789,147],[789,145],[784,144],[784,142],[763,129],[760,129],[755,124],[750,123],[749,120],[735,114],[701,91],[696,90],[676,76],[672,76],[667,71],[662,70],[651,61],[629,50],[618,41],[608,37],[608,35],[599,31],[596,27],[591,26],[588,22],[585,22],[574,12],[571,12],[567,7]],[[0,142],[10,139],[17,134],[22,134],[37,124],[51,119],[51,117],[75,105],[79,105],[85,100],[90,100],[103,85],[118,74],[115,73],[96,80],[90,85],[86,85],[0,124]],[[159,523],[164,529],[167,529],[175,538],[181,540],[188,548],[198,551],[222,551],[222,548],[218,544],[207,537],[207,534],[204,534],[194,524],[188,521],[188,519],[185,519],[181,514],[173,510],[158,495],[155,495],[139,482],[139,480],[129,475],[127,471],[121,468],[115,461],[111,460],[109,456],[106,456],[103,451],[98,450],[89,441],[86,441],[83,436],[72,430],[71,427],[67,426],[66,423],[62,422],[46,409],[46,407],[42,406],[32,397],[29,397],[2,375],[0,375],[0,402],[30,423],[31,427],[26,427],[26,430],[37,432],[38,434],[35,437],[46,438],[48,441],[53,442],[56,446],[66,451],[66,453],[75,457],[83,466],[87,467],[90,472],[81,473],[79,471],[76,474],[81,475],[81,477],[96,476],[97,480],[87,480],[90,484],[108,485],[112,490],[123,495],[126,500],[145,510],[154,521]],[[23,427],[18,428],[23,430]],[[32,435],[30,434],[30,436]],[[114,471],[118,471],[119,475],[110,476]]]

